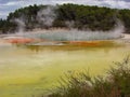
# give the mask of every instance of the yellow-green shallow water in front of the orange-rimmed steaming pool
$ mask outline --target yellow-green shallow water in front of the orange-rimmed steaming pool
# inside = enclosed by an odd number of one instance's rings
[[[90,43],[91,44],[91,43]],[[56,86],[60,77],[89,70],[104,74],[130,54],[130,45],[99,41],[99,45],[0,45],[0,97],[36,97]]]

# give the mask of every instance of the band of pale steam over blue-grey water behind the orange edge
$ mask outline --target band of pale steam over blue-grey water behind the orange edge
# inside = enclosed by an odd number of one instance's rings
[[[36,32],[31,34],[26,34],[30,38],[39,38],[50,41],[91,41],[91,40],[109,40],[117,39],[121,37],[123,32],[123,26],[118,24],[118,26],[110,31],[81,31],[77,29],[73,30],[48,30],[46,32]]]

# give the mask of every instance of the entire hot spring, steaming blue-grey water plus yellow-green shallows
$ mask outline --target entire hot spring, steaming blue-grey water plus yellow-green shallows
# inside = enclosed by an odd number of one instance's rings
[[[129,44],[115,43],[121,32],[56,29],[0,36],[0,97],[37,96],[70,71],[104,73],[130,54]]]

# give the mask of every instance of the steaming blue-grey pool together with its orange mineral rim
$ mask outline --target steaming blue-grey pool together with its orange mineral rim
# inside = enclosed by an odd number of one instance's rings
[[[15,33],[3,39],[9,43],[26,43],[31,45],[96,44],[99,41],[121,38],[123,27],[110,31],[80,30],[41,30],[35,32]]]

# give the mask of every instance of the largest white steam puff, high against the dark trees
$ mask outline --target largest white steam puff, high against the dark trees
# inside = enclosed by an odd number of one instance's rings
[[[56,15],[54,13],[54,6],[47,6],[46,9],[37,13],[37,19],[40,24],[51,27]]]

